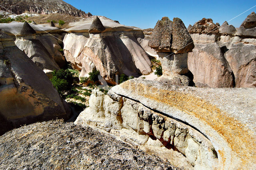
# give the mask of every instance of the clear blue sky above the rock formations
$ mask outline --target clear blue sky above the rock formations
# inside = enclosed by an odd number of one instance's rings
[[[256,5],[256,0],[64,0],[93,15],[118,20],[120,24],[142,29],[154,28],[163,16],[181,18],[186,27],[202,18],[222,24]],[[239,27],[256,7],[228,22]]]

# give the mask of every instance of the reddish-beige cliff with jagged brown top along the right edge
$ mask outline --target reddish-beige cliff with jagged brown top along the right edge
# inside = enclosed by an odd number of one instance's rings
[[[255,17],[252,12],[238,30],[227,22],[217,28],[205,18],[190,28],[195,48],[188,54],[188,68],[196,86],[256,86]],[[202,24],[206,20],[208,27]]]

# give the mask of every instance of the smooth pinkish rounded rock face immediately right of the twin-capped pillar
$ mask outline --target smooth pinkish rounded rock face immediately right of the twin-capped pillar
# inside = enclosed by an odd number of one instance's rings
[[[188,53],[188,68],[197,87],[234,87],[234,74],[216,42],[197,44]]]

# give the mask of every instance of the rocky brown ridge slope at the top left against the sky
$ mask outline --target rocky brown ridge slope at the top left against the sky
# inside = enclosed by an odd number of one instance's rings
[[[29,11],[37,14],[63,13],[71,16],[92,16],[62,0],[1,0],[0,10],[10,10],[14,14],[22,14]],[[6,9],[5,9],[6,8]]]

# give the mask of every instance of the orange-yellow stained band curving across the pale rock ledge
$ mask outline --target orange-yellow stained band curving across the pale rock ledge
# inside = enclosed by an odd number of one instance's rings
[[[178,90],[162,90],[134,82],[123,83],[120,86],[206,122],[223,136],[230,148],[241,158],[242,164],[246,166],[248,162],[256,163],[256,139],[252,130],[213,104]],[[222,158],[224,159],[224,157]]]

